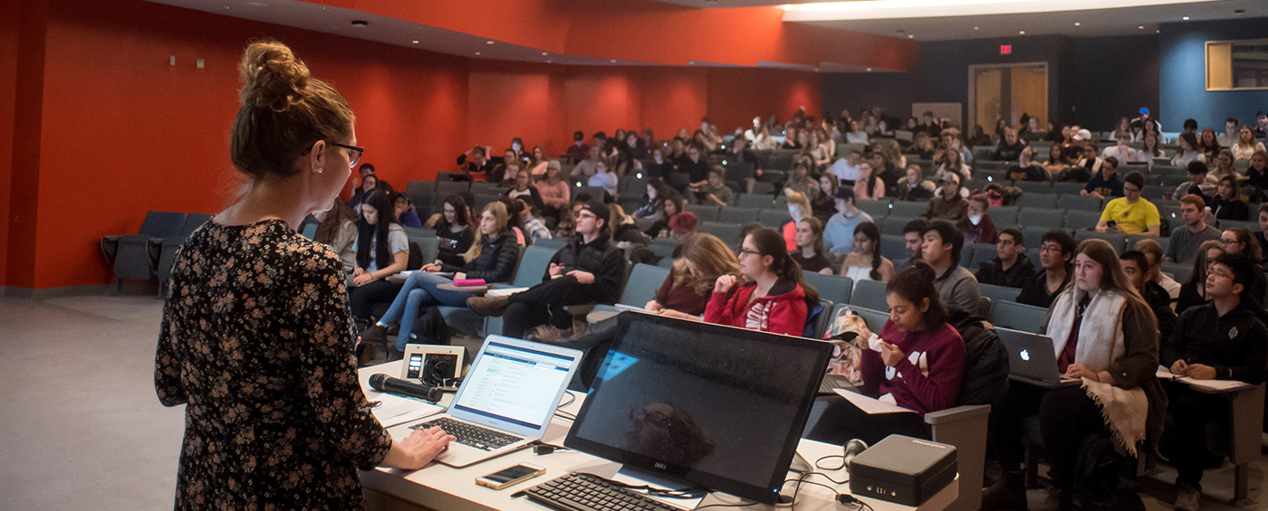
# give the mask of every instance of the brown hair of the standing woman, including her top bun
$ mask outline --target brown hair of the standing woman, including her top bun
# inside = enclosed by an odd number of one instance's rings
[[[233,119],[230,159],[252,178],[294,175],[295,159],[318,140],[347,139],[356,121],[344,96],[313,78],[276,40],[251,43],[238,63],[242,106]]]

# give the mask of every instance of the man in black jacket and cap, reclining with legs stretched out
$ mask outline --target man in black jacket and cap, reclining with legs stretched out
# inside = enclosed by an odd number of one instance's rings
[[[550,259],[541,283],[511,296],[472,297],[467,306],[483,316],[505,315],[502,334],[524,339],[530,328],[539,325],[571,330],[572,315],[563,309],[567,305],[616,302],[625,257],[610,240],[607,206],[600,200],[579,206],[577,238]]]

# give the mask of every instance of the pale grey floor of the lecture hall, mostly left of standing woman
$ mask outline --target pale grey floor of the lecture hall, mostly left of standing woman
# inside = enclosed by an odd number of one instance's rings
[[[162,302],[152,297],[0,300],[0,508],[170,508],[184,426],[155,397]],[[1268,467],[1253,465],[1245,508],[1268,510]],[[1140,482],[1169,510],[1174,471]],[[1232,508],[1232,471],[1208,472],[1205,510]],[[1052,510],[1031,491],[1031,510]]]

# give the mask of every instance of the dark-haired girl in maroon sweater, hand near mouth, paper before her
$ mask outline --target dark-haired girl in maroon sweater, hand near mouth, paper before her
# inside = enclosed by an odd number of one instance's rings
[[[880,331],[879,352],[864,347],[862,393],[896,403],[914,414],[867,415],[846,400],[833,400],[806,438],[832,444],[860,439],[867,444],[890,434],[929,438],[923,414],[956,406],[964,377],[964,339],[951,324],[933,287],[933,269],[917,262],[885,287],[889,321]]]

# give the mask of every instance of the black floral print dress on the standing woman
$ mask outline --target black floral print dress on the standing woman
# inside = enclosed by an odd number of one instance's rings
[[[155,390],[185,406],[175,508],[356,510],[392,438],[353,355],[344,263],[281,220],[208,221],[172,266]]]

